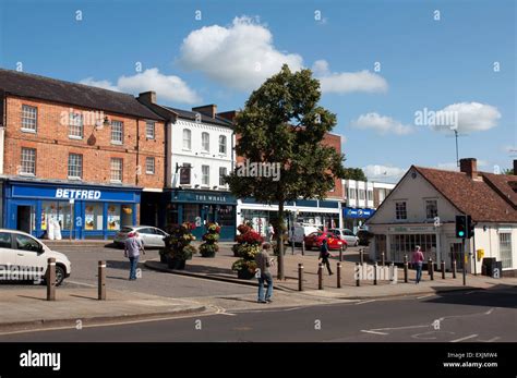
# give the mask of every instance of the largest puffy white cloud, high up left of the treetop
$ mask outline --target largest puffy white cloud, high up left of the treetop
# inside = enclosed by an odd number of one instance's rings
[[[183,39],[179,62],[225,86],[251,90],[287,63],[302,68],[297,53],[279,51],[266,26],[250,17],[236,17],[229,26],[204,26]]]

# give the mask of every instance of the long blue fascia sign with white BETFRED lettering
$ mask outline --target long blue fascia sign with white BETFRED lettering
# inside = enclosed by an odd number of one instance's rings
[[[57,200],[87,200],[87,202],[140,202],[140,190],[137,188],[113,188],[89,186],[49,186],[49,185],[17,185],[11,186],[12,198],[37,198]]]

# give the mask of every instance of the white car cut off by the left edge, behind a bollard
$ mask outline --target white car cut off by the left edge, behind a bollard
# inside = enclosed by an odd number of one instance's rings
[[[23,231],[0,229],[0,280],[41,282],[50,257],[56,258],[56,285],[60,285],[72,270],[65,255]]]

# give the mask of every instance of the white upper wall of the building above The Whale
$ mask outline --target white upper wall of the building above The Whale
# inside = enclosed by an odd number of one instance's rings
[[[191,149],[183,149],[183,129],[191,131]],[[209,153],[205,153],[202,149],[202,133],[208,133],[209,135]],[[191,170],[191,187],[200,185],[202,190],[214,190],[217,186],[218,190],[227,188],[219,186],[219,168],[225,167],[227,173],[232,170],[232,130],[230,127],[218,126],[214,124],[197,123],[188,120],[178,120],[175,124],[169,127],[171,133],[170,138],[170,154],[171,154],[171,178],[168,184],[175,186],[179,184],[179,175],[176,173],[176,164],[182,166],[183,163],[190,163]],[[219,154],[219,135],[225,135],[227,141],[226,155]],[[209,167],[209,185],[202,185],[202,166]]]

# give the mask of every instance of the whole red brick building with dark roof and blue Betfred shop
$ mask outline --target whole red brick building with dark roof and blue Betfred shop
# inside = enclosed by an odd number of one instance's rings
[[[108,237],[163,190],[165,123],[133,96],[0,70],[0,102],[3,227]]]

